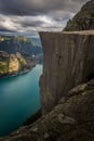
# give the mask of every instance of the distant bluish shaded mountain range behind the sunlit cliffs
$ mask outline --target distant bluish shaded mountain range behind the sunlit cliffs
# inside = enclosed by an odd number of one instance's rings
[[[26,37],[0,36],[0,50],[8,53],[19,52],[23,55],[37,55],[42,53],[42,48],[36,40]]]

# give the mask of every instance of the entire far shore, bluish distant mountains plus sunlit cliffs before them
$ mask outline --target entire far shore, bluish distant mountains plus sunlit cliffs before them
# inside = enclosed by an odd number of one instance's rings
[[[28,72],[42,62],[38,39],[0,36],[0,77]]]

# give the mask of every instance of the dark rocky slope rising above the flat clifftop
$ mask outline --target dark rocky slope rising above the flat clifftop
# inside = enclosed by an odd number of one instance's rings
[[[67,23],[64,30],[89,30],[94,29],[94,0],[84,4],[81,11]]]

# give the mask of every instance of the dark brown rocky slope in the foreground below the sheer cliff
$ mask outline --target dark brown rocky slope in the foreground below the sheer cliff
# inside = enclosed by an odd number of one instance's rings
[[[66,94],[51,113],[0,141],[94,141],[94,79]]]

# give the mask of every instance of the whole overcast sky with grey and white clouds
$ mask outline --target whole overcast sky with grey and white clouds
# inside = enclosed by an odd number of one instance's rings
[[[0,0],[0,35],[37,37],[62,31],[89,0]]]

